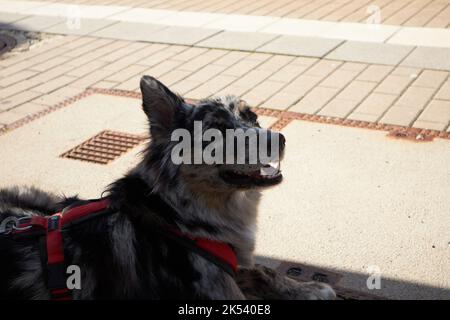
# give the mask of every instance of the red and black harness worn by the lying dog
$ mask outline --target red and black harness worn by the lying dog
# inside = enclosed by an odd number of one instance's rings
[[[68,207],[51,216],[32,216],[20,219],[20,224],[11,232],[13,235],[26,235],[36,231],[43,231],[47,256],[47,287],[50,290],[52,300],[72,299],[71,290],[67,288],[66,284],[67,273],[62,231],[75,223],[111,212],[108,211],[108,206],[109,200],[101,199],[77,207]],[[229,244],[206,238],[191,237],[172,228],[169,232],[166,232],[166,235],[215,263],[230,274],[236,272],[237,257]]]

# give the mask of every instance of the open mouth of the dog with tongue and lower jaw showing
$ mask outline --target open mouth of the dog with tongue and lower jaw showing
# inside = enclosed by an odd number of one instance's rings
[[[225,182],[239,186],[272,186],[283,179],[280,161],[271,162],[257,170],[224,170],[220,176]]]

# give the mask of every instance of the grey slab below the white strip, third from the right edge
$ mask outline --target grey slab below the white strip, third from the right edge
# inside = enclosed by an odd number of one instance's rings
[[[256,51],[322,58],[341,42],[324,38],[281,36],[259,47]]]

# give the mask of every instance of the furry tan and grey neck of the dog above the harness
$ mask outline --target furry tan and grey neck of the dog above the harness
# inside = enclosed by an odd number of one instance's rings
[[[240,265],[253,265],[259,191],[211,191],[182,179],[155,187],[153,170],[138,166],[133,172],[178,213],[176,224],[182,232],[229,243]]]

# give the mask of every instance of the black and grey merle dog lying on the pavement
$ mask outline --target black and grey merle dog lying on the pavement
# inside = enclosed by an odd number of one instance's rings
[[[257,116],[236,97],[191,104],[156,79],[141,80],[151,141],[142,162],[108,188],[111,214],[64,234],[68,264],[81,270],[74,299],[333,299],[322,283],[300,283],[254,265],[260,190],[281,181],[266,165],[174,164],[175,129],[259,128]],[[279,134],[280,153],[284,137]],[[79,202],[36,188],[0,191],[0,222],[7,217],[50,215]],[[183,234],[229,244],[238,271],[230,275],[204,256],[166,236]],[[35,238],[0,236],[0,299],[49,299],[44,264]]]

